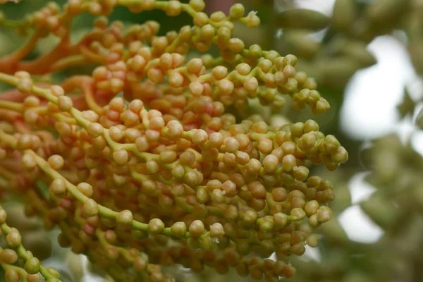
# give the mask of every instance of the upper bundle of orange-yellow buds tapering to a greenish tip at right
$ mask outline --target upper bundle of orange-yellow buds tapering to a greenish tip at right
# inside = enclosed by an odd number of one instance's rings
[[[127,99],[142,98],[149,107],[158,110],[174,109],[176,106],[183,111],[190,100],[201,96],[212,97],[225,106],[235,104],[240,110],[247,108],[248,100],[257,98],[262,104],[271,104],[278,109],[284,104],[284,94],[293,98],[294,109],[300,110],[307,104],[314,114],[329,109],[328,102],[315,90],[314,80],[307,78],[303,72],[295,72],[295,56],[262,51],[258,45],[244,49],[242,40],[231,39],[231,31],[227,27],[216,30],[214,26],[207,24],[201,29],[209,28],[213,35],[209,44],[217,42],[218,46],[219,30],[228,30],[228,47],[219,46],[226,53],[236,51],[233,60],[222,56],[228,61],[228,67],[216,66],[216,60],[211,56],[185,63],[183,55],[187,54],[190,44],[202,35],[202,32],[195,35],[196,29],[189,26],[182,27],[179,34],[168,32],[161,37],[155,36],[159,25],[154,22],[134,26],[126,35],[116,35],[116,31],[104,32],[103,39],[90,43],[93,53],[90,57],[108,63],[93,73],[98,81],[96,91],[116,94],[125,89]],[[149,41],[151,46],[140,40]],[[124,58],[122,54],[125,49],[128,49],[129,56]],[[124,62],[126,66],[123,66]],[[140,85],[145,78],[148,81]],[[161,85],[165,79],[168,84]],[[149,87],[145,86],[146,83]],[[190,95],[184,101],[174,101],[175,94],[183,92]]]

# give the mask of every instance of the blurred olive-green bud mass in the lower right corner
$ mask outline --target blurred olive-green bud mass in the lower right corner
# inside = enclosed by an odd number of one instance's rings
[[[319,228],[321,234],[314,233],[324,241],[320,250],[325,253],[319,262],[293,259],[297,267],[293,281],[371,282],[393,278],[414,281],[421,277],[417,269],[423,245],[419,236],[423,230],[423,188],[419,173],[423,167],[422,156],[412,148],[411,142],[403,142],[396,134],[373,140],[372,146],[363,149],[360,155],[361,170],[369,170],[363,173],[362,180],[371,184],[374,192],[355,203],[357,200],[348,189],[349,173],[341,170],[331,178],[337,196],[331,205],[333,219]],[[367,238],[350,237],[353,233],[345,227],[351,224],[350,219],[342,215],[348,214],[348,209],[361,209],[366,214],[368,219],[360,216],[362,227],[356,223],[355,228],[360,232],[367,230]],[[369,219],[379,232],[374,226],[364,225]],[[312,240],[307,243],[310,245]],[[323,245],[330,249],[325,250]],[[357,259],[360,255],[362,258]],[[386,271],[387,268],[391,270]]]

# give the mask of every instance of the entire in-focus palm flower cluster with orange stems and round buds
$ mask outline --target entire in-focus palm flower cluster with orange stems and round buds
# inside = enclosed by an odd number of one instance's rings
[[[124,27],[106,18],[115,6],[188,13],[193,25],[165,35],[154,21]],[[239,120],[251,101],[276,111],[287,95],[294,109],[321,114],[329,103],[316,82],[295,71],[295,56],[231,37],[236,21],[259,25],[255,12],[241,4],[228,15],[203,10],[202,0],[69,0],[19,22],[0,19],[32,30],[25,46],[0,58],[0,80],[16,87],[0,94],[4,197],[21,197],[27,215],[61,229],[62,247],[116,281],[172,281],[161,268],[173,264],[278,281],[295,274],[290,255],[317,245],[312,228],[332,216],[333,186],[308,167],[333,171],[347,161],[336,137],[312,120]],[[99,18],[73,44],[72,21],[85,12]],[[49,34],[59,44],[25,59]],[[206,54],[212,47],[219,57]],[[204,55],[188,59],[190,50]],[[92,73],[37,81],[88,63]],[[6,281],[59,281],[6,218],[1,209]],[[266,259],[273,253],[276,260]]]

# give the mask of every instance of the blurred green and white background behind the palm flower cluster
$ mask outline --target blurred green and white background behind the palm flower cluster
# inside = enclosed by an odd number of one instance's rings
[[[293,258],[297,275],[291,281],[423,281],[420,251],[423,247],[420,145],[423,114],[419,114],[423,89],[420,80],[423,73],[423,1],[238,1],[247,11],[257,11],[262,25],[255,30],[239,26],[234,36],[243,39],[246,45],[260,44],[263,49],[275,49],[282,55],[298,56],[298,69],[317,80],[319,92],[331,104],[330,111],[314,118],[322,131],[336,135],[350,152],[348,163],[337,171],[328,173],[319,167],[312,171],[313,175],[333,181],[336,200],[331,208],[336,217],[317,229],[319,247],[307,247],[305,256]],[[0,9],[7,18],[19,20],[46,2],[23,0],[18,6],[10,3]],[[63,4],[65,1],[56,2]],[[227,12],[233,4],[232,0],[206,2],[207,13]],[[116,8],[110,19],[123,23],[156,20],[161,24],[161,34],[191,24],[186,14],[168,18],[162,11],[134,14],[123,7]],[[93,17],[88,14],[78,17],[73,23],[73,40],[92,28],[92,22]],[[20,33],[16,35],[0,27],[0,55],[8,54],[25,41],[25,33]],[[53,36],[43,39],[30,56],[48,51],[56,41]],[[391,50],[387,55],[388,63],[382,65],[380,52],[388,49]],[[407,68],[405,79],[398,75],[403,68]],[[78,72],[91,69],[85,66]],[[70,69],[55,74],[56,77],[39,80],[60,79],[73,71]],[[399,88],[389,89],[386,85],[392,85],[396,78]],[[360,92],[367,95],[360,95]],[[309,109],[293,111],[290,103],[278,112],[264,111],[257,104],[250,107],[251,112],[264,113],[270,122],[271,118],[306,121],[312,117]],[[384,110],[389,107],[396,107],[395,111]],[[364,123],[360,123],[362,115],[367,117]],[[384,122],[375,123],[376,120]],[[58,246],[52,247],[57,245],[57,232],[49,231],[50,240],[46,239],[42,224],[25,218],[23,206],[12,203],[4,208],[10,214],[11,225],[24,231],[24,243],[37,257],[47,258],[52,250],[59,250],[44,264],[63,271],[63,281],[106,279],[103,274],[97,275],[95,267],[83,257],[60,250]],[[168,269],[168,272],[173,273],[177,281],[246,279],[235,273],[219,276],[210,270],[192,276],[189,269],[180,267]]]

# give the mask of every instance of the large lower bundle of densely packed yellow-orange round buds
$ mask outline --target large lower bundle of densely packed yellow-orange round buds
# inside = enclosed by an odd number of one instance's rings
[[[35,147],[30,135],[22,135],[8,145],[25,152],[22,166],[28,172],[40,168],[53,178],[50,195],[62,212],[54,212],[46,223],[60,223],[66,212],[74,213],[74,224],[79,226],[73,229],[78,238],[73,241],[75,252],[84,252],[84,244],[99,240],[100,232],[114,231],[120,240],[128,240],[128,247],[140,238],[145,239],[144,245],[148,238],[168,235],[191,248],[212,250],[218,257],[219,247],[231,250],[239,257],[232,265],[236,266],[247,263],[244,257],[250,252],[262,256],[276,252],[280,259],[302,255],[310,234],[302,222],[316,228],[331,219],[326,204],[333,200],[332,185],[309,177],[306,162],[323,163],[332,170],[348,154],[335,137],[319,132],[314,121],[271,129],[259,116],[236,124],[233,116],[225,114],[209,121],[206,131],[192,128],[188,121],[165,121],[161,112],[147,111],[137,99],[127,106],[122,98],[114,98],[99,116],[79,112],[66,99],[62,101],[64,96],[54,96],[54,91],[34,90],[47,99],[55,97],[58,114],[70,118],[74,112],[82,128],[56,121],[59,140]],[[68,130],[63,129],[66,126]],[[197,121],[197,126],[204,124]],[[37,149],[37,154],[27,152],[30,149]],[[64,166],[78,171],[69,179],[79,183],[73,188],[54,172]],[[122,212],[110,221],[105,209]],[[137,224],[140,230],[123,228]],[[113,252],[106,255],[109,259],[121,254],[101,243],[99,252]],[[147,250],[146,254],[154,257],[155,253]],[[223,267],[222,260],[216,262],[216,269]],[[264,275],[264,264],[259,265],[244,271]],[[292,269],[286,267],[267,269],[268,276],[289,276]]]

